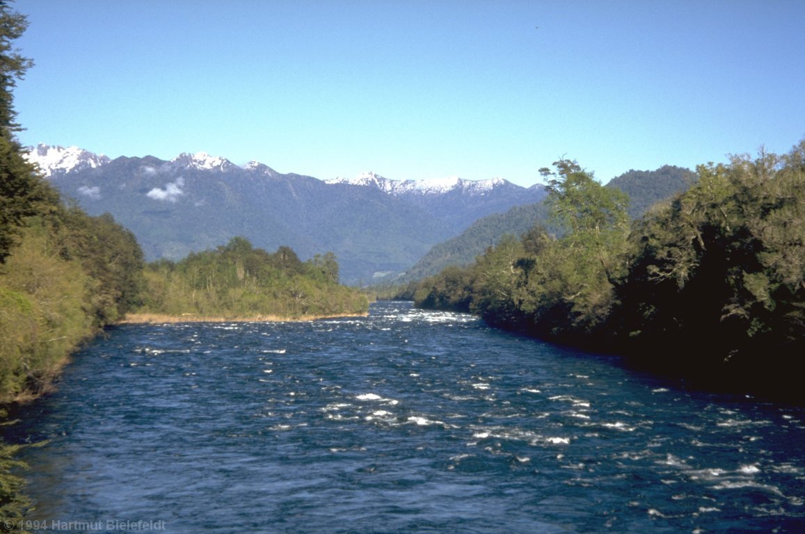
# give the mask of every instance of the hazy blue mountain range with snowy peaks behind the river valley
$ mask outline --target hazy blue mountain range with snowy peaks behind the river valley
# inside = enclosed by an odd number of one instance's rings
[[[178,260],[244,236],[266,250],[290,246],[303,259],[335,253],[341,280],[352,284],[393,279],[481,217],[546,195],[539,184],[499,178],[413,181],[368,172],[324,181],[203,152],[112,159],[39,145],[28,158],[90,215],[109,212],[129,228],[147,260]]]

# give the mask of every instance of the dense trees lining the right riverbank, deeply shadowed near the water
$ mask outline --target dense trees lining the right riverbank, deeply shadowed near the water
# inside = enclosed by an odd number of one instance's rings
[[[805,141],[698,166],[693,185],[628,216],[629,197],[577,162],[543,168],[559,236],[537,224],[415,303],[630,356],[687,384],[797,397],[805,354]]]

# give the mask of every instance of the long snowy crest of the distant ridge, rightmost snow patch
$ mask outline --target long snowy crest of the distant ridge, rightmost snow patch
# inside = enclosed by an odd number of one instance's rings
[[[392,180],[368,171],[353,179],[336,178],[326,183],[348,183],[356,186],[377,187],[390,195],[444,195],[450,191],[462,191],[469,195],[484,195],[495,187],[514,185],[502,178],[489,180],[465,180],[458,176],[424,180]]]

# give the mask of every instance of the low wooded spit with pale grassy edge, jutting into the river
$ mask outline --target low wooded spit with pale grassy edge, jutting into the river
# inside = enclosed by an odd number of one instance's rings
[[[147,289],[135,321],[269,320],[363,315],[364,294],[338,283],[333,253],[300,261],[282,246],[275,253],[233,237],[215,250],[145,269]]]

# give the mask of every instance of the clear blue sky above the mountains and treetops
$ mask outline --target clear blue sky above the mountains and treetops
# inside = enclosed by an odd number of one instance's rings
[[[805,138],[803,0],[17,0],[26,145],[319,179],[626,170]]]

